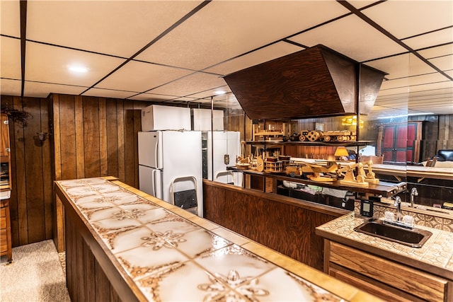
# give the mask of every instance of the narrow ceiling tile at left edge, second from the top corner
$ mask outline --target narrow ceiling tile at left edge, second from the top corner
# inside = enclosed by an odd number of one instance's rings
[[[21,79],[21,40],[0,37],[0,76]]]

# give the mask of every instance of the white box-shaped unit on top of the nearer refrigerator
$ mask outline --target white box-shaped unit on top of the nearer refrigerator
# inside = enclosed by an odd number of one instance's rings
[[[142,131],[190,130],[190,108],[150,105],[142,109]]]

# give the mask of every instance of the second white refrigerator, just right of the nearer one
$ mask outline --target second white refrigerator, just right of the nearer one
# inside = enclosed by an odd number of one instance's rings
[[[242,173],[226,170],[236,165],[236,158],[241,154],[240,132],[207,131],[202,132],[202,138],[203,178],[241,186]]]

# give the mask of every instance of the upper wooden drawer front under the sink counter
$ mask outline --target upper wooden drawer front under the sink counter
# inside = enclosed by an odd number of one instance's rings
[[[330,261],[428,301],[444,301],[448,281],[366,252],[331,242]]]

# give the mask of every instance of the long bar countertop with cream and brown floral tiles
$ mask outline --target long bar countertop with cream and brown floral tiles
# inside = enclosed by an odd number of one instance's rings
[[[108,178],[107,178],[108,179]],[[378,301],[263,245],[106,178],[61,180],[66,199],[149,301]]]

